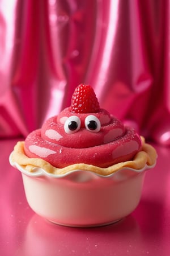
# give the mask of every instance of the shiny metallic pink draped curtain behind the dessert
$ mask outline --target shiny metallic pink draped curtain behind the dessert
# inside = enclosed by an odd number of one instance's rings
[[[0,0],[0,137],[26,136],[80,83],[170,145],[168,0]]]

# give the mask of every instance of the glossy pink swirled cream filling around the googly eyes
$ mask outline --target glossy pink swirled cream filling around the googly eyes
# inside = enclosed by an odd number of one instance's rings
[[[73,134],[65,131],[67,118],[79,118],[79,128]],[[141,149],[141,138],[134,129],[100,109],[92,113],[99,119],[101,128],[94,132],[84,124],[90,113],[71,113],[70,108],[58,116],[49,118],[41,129],[33,131],[25,139],[25,154],[30,158],[41,158],[55,167],[63,168],[75,163],[108,167],[114,163],[133,159]]]

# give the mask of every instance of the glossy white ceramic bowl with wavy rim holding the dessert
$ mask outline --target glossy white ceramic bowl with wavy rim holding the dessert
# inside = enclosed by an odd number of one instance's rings
[[[53,175],[41,168],[22,172],[29,206],[56,224],[65,226],[101,226],[128,216],[141,199],[145,171],[123,168],[108,176],[75,170]]]

